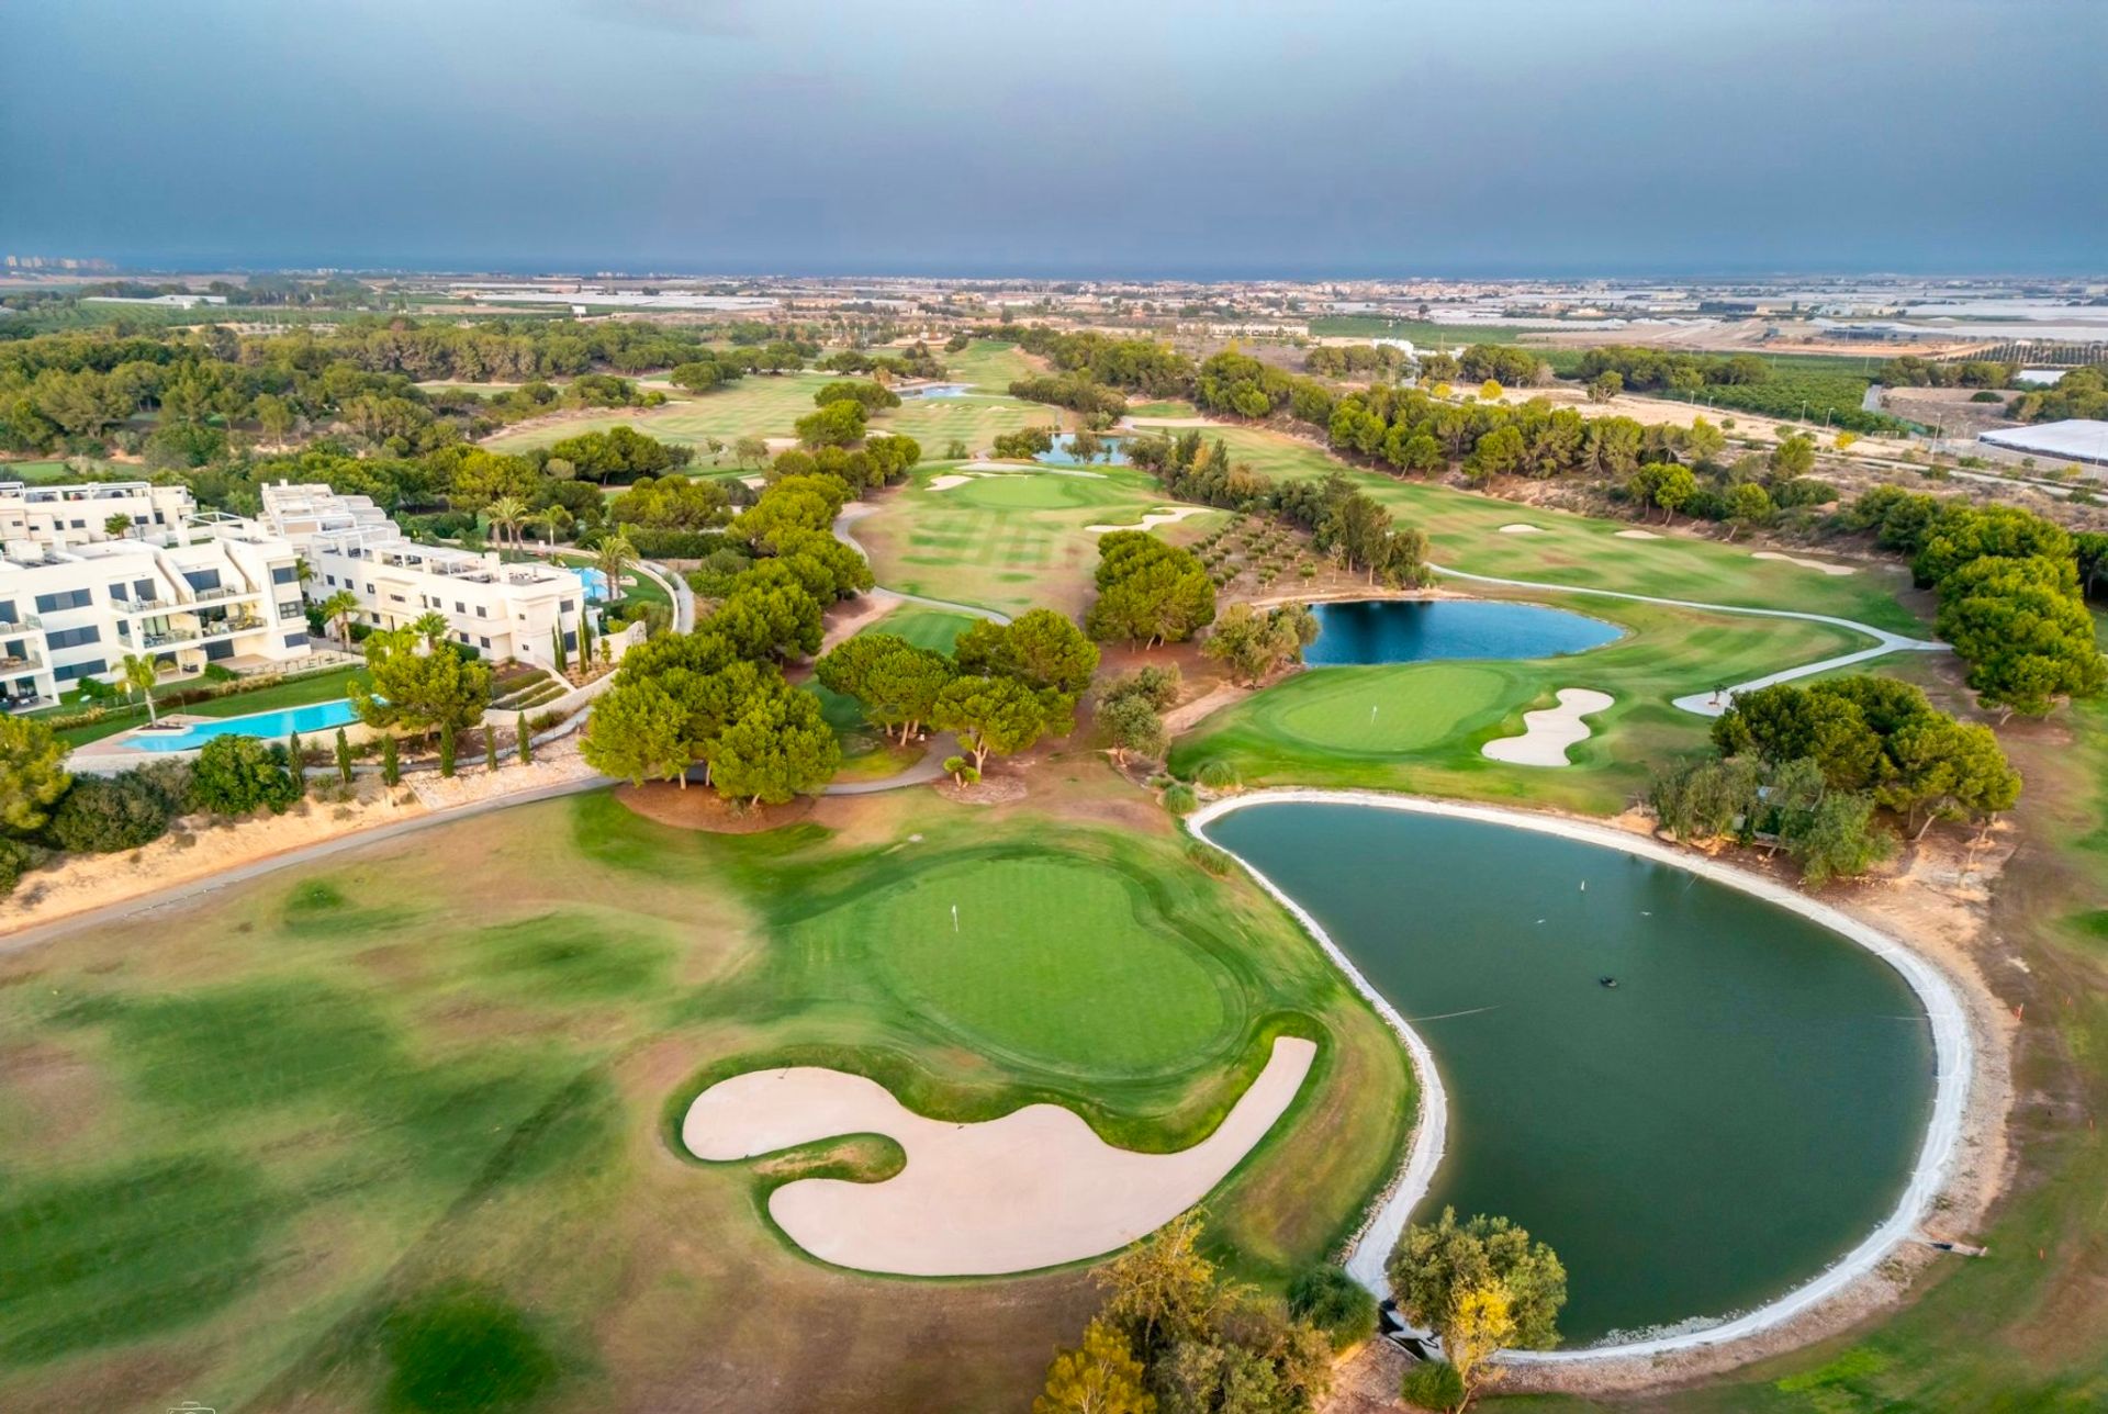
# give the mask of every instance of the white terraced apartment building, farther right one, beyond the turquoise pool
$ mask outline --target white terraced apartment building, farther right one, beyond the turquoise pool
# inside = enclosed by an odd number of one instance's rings
[[[565,655],[578,651],[586,586],[571,569],[419,546],[369,497],[318,485],[264,487],[264,523],[308,556],[308,598],[350,590],[363,624],[403,628],[441,613],[447,636],[489,662],[554,668],[559,634]]]

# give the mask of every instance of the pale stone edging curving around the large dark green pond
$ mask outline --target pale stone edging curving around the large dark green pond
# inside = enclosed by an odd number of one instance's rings
[[[1733,864],[1720,864],[1718,860],[1707,860],[1691,856],[1689,851],[1663,845],[1653,837],[1632,834],[1604,824],[1589,824],[1585,820],[1568,820],[1562,816],[1543,816],[1535,811],[1503,809],[1492,805],[1465,805],[1457,801],[1429,801],[1421,797],[1387,794],[1377,790],[1311,790],[1311,788],[1275,788],[1275,790],[1252,790],[1246,794],[1225,797],[1210,801],[1202,809],[1187,816],[1187,826],[1195,837],[1214,845],[1206,834],[1206,826],[1221,820],[1227,813],[1246,809],[1252,805],[1275,805],[1275,803],[1305,803],[1305,805],[1362,805],[1374,809],[1395,809],[1419,816],[1444,816],[1450,820],[1478,820],[1482,824],[1503,824],[1522,830],[1535,830],[1539,834],[1554,834],[1560,839],[1573,839],[1587,845],[1598,845],[1604,849],[1617,849],[1634,858],[1648,860],[1653,864],[1670,864],[1682,868],[1691,875],[1712,879],[1714,883],[1724,883],[1733,889],[1741,889],[1752,898],[1760,898],[1769,904],[1777,904],[1804,919],[1840,934],[1849,942],[1874,953],[1878,959],[1895,967],[1904,976],[1904,982],[1925,1005],[1927,1020],[1933,1030],[1933,1056],[1935,1056],[1935,1092],[1933,1092],[1933,1115],[1925,1130],[1925,1142],[1918,1148],[1916,1167],[1910,1174],[1910,1182],[1904,1186],[1901,1199],[1897,1199],[1895,1210],[1868,1233],[1851,1252],[1832,1262],[1828,1269],[1817,1273],[1807,1283],[1785,1292],[1777,1300],[1771,1300],[1756,1311],[1745,1311],[1718,1325],[1707,1325],[1703,1330],[1676,1330],[1672,1334],[1648,1336],[1640,1340],[1627,1340],[1621,1344],[1587,1347],[1579,1351],[1509,1351],[1505,1359],[1511,1363],[1577,1363],[1577,1361],[1602,1361],[1602,1359],[1629,1359],[1629,1357],[1655,1357],[1674,1351],[1691,1351],[1701,1347],[1720,1347],[1745,1336],[1756,1336],[1760,1332],[1783,1325],[1807,1311],[1819,1307],[1821,1302],[1838,1296],[1849,1285],[1876,1271],[1880,1262],[1895,1252],[1901,1243],[1910,1241],[1918,1222],[1931,1212],[1933,1201],[1946,1189],[1950,1176],[1954,1174],[1963,1117],[1969,1108],[1969,1089],[1975,1075],[1975,1039],[1969,1030],[1969,1018],[1963,1007],[1954,984],[1948,982],[1946,974],[1927,961],[1920,953],[1912,950],[1908,944],[1891,938],[1889,934],[1861,923],[1847,912],[1813,900],[1796,889],[1788,889],[1762,875],[1737,868]],[[1221,849],[1221,845],[1214,845]],[[1419,1119],[1412,1125],[1412,1138],[1406,1146],[1406,1161],[1398,1176],[1385,1191],[1385,1197],[1372,1210],[1366,1226],[1353,1243],[1347,1256],[1347,1273],[1377,1292],[1385,1292],[1383,1260],[1389,1256],[1400,1233],[1406,1226],[1406,1218],[1427,1197],[1427,1189],[1433,1180],[1436,1167],[1442,1163],[1442,1151],[1448,1136],[1448,1094],[1442,1087],[1442,1075],[1436,1068],[1433,1052],[1427,1043],[1412,1030],[1404,1016],[1370,986],[1368,978],[1347,959],[1347,955],[1332,942],[1330,934],[1318,923],[1315,917],[1286,891],[1282,891],[1271,879],[1267,879],[1258,868],[1250,864],[1244,856],[1233,849],[1225,849],[1252,879],[1271,893],[1303,927],[1309,931],[1318,946],[1339,965],[1347,980],[1362,993],[1364,999],[1383,1016],[1385,1022],[1400,1035],[1406,1045],[1406,1054],[1412,1056],[1412,1068],[1421,1081],[1421,1106]]]

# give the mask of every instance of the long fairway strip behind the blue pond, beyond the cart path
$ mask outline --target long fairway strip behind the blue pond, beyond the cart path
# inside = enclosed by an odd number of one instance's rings
[[[1210,430],[1237,461],[1280,478],[1326,476],[1349,470],[1309,443],[1258,430]],[[1560,510],[1539,510],[1490,495],[1423,480],[1398,480],[1349,470],[1355,485],[1383,502],[1402,525],[1427,531],[1429,558],[1438,565],[1507,580],[1537,580],[1585,588],[1832,613],[1874,628],[1925,634],[1927,622],[1897,601],[1910,575],[1863,567],[1853,575],[1826,575],[1779,561],[1752,558],[1756,544],[1722,544],[1678,535],[1659,523],[1598,521]],[[1535,525],[1535,535],[1503,535],[1503,525]],[[1617,531],[1651,529],[1661,539],[1629,539]]]

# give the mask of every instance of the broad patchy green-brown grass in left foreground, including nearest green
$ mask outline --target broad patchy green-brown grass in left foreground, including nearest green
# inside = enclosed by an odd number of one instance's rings
[[[1277,1290],[1383,1182],[1404,1058],[1271,900],[1094,782],[1033,811],[828,801],[767,834],[603,790],[164,908],[152,946],[110,925],[0,961],[0,1406],[1016,1406],[1096,1300],[1081,1269],[862,1277],[759,1199],[881,1174],[883,1146],[681,1155],[694,1094],[793,1060],[1180,1148],[1271,1035],[1315,1037],[1210,1199],[1233,1273]],[[934,931],[951,906],[963,942]]]

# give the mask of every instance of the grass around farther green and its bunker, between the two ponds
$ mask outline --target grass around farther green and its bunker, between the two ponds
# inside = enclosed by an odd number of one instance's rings
[[[1530,662],[1305,668],[1193,727],[1172,748],[1172,769],[1191,778],[1221,759],[1250,784],[1379,786],[1617,813],[1657,765],[1705,746],[1710,723],[1672,706],[1674,698],[1866,643],[1794,620],[1520,590],[1492,596],[1592,613],[1629,636]],[[1522,714],[1554,706],[1562,687],[1615,698],[1587,719],[1594,733],[1568,750],[1573,765],[1505,765],[1480,754],[1492,738],[1520,735]]]

